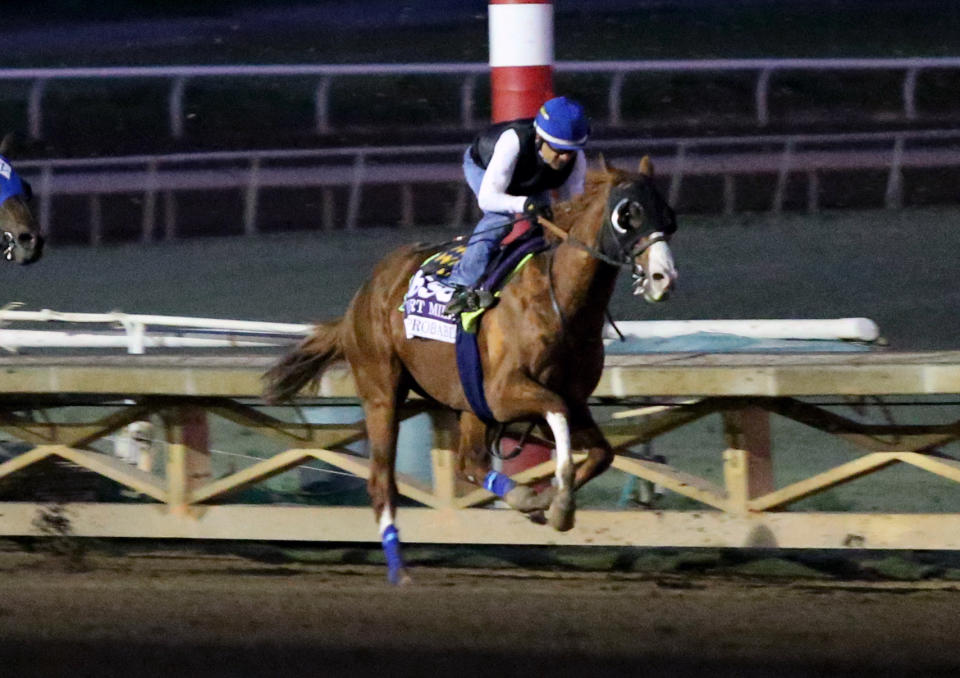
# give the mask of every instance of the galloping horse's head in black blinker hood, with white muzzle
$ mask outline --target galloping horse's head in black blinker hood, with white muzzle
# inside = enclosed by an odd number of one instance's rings
[[[654,185],[653,163],[644,156],[639,173],[604,169],[612,185],[600,249],[618,261],[632,260],[634,294],[649,302],[663,301],[677,280],[667,244],[677,230],[677,218]]]

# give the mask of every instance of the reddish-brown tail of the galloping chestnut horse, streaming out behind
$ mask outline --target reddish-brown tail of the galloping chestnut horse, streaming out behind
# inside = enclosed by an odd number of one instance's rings
[[[310,335],[263,375],[263,398],[280,403],[311,382],[316,383],[329,363],[343,358],[340,328],[343,319],[315,325]]]

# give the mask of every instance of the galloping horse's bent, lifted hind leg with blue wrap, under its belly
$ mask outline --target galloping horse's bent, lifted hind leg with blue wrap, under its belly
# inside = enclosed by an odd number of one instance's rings
[[[550,503],[529,485],[518,485],[509,476],[494,471],[487,450],[487,425],[471,412],[460,415],[460,444],[457,447],[457,475],[503,499],[510,508],[523,513],[542,511]]]

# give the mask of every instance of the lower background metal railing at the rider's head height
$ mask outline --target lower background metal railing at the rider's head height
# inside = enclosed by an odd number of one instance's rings
[[[681,205],[684,182],[691,177],[723,179],[722,200],[717,211],[738,209],[738,177],[767,175],[771,190],[766,209],[784,209],[787,182],[800,174],[807,180],[805,208],[820,209],[819,178],[828,170],[882,170],[886,172],[883,204],[897,208],[904,204],[903,170],[908,168],[960,167],[960,130],[927,130],[835,135],[763,135],[752,137],[669,138],[657,140],[599,140],[591,154],[622,166],[633,166],[641,155],[654,159],[657,174],[668,178],[669,200]],[[418,221],[415,190],[435,192],[438,184],[456,186],[456,199],[447,221],[462,228],[473,201],[460,168],[463,146],[392,146],[382,148],[340,148],[309,151],[237,151],[198,154],[140,155],[118,158],[33,160],[17,164],[21,174],[32,181],[38,201],[41,229],[56,236],[52,201],[57,196],[86,196],[92,244],[103,239],[100,197],[134,194],[140,197],[139,224],[144,241],[178,237],[176,194],[182,191],[235,191],[242,201],[243,232],[260,230],[261,193],[269,189],[317,188],[324,200],[332,200],[325,189],[346,191],[344,218],[332,217],[322,229],[356,229],[364,191],[375,185],[400,186],[400,199],[388,202],[381,211],[380,225],[411,226]],[[415,160],[413,160],[415,158]],[[167,202],[163,232],[157,233],[158,198]],[[431,196],[432,199],[434,199]],[[333,214],[332,209],[325,209]],[[76,220],[70,214],[71,221]]]

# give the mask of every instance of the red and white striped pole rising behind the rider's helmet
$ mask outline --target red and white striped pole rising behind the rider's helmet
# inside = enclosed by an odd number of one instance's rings
[[[532,118],[553,96],[553,0],[490,0],[493,122]]]

